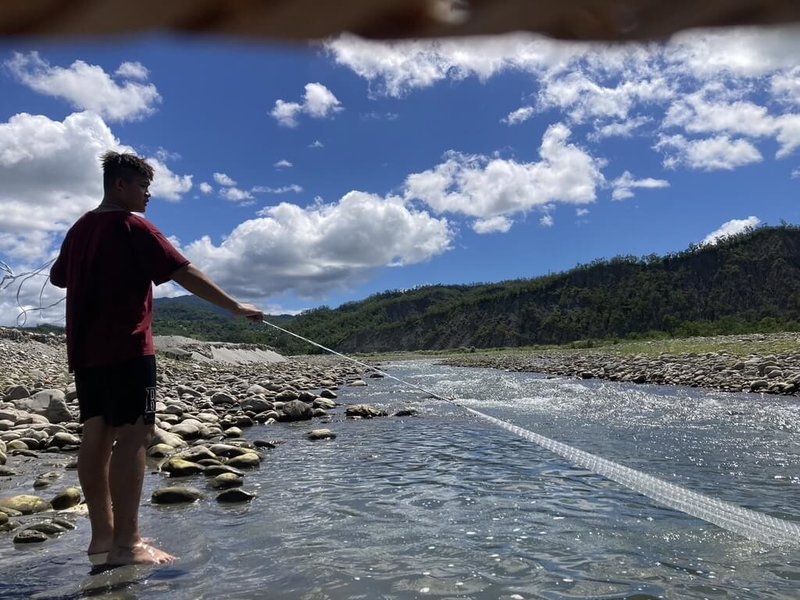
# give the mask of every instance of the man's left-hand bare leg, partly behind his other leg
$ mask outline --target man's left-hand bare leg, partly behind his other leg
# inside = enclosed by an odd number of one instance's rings
[[[78,479],[89,508],[92,539],[89,554],[108,552],[114,535],[111,511],[111,492],[108,482],[108,467],[114,429],[103,417],[92,417],[83,424],[81,447],[78,451]]]

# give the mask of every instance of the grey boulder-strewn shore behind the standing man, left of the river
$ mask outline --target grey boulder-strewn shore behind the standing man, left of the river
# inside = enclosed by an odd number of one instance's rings
[[[147,477],[160,481],[143,502],[247,502],[254,494],[246,472],[287,436],[329,440],[336,433],[313,420],[386,416],[337,402],[337,390],[364,386],[370,375],[352,363],[287,360],[265,348],[185,338],[157,347]],[[45,542],[85,513],[76,473],[81,425],[63,336],[0,328],[0,364],[0,544]],[[281,425],[291,421],[310,423]],[[251,428],[257,433],[245,436]]]

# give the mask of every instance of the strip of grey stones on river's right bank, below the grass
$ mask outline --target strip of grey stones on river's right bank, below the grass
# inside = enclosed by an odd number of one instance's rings
[[[626,355],[613,347],[582,350],[464,354],[441,360],[461,367],[546,373],[580,379],[684,385],[727,392],[796,395],[800,391],[800,334],[726,336],[728,342],[782,342],[796,351],[740,356],[726,351]]]

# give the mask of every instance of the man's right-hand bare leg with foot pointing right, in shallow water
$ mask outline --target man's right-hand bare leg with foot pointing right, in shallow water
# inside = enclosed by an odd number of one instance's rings
[[[140,418],[133,425],[122,425],[115,430],[117,443],[111,452],[109,469],[114,536],[107,562],[110,565],[170,562],[175,557],[146,544],[139,535],[146,448],[153,426],[145,425]]]

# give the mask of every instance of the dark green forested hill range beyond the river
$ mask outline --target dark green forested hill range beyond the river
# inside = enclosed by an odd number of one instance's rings
[[[285,334],[169,302],[157,302],[156,333],[313,351]],[[384,292],[270,320],[342,352],[798,329],[800,228],[762,227],[669,256],[598,260],[536,279]]]

